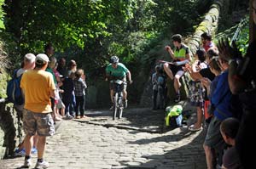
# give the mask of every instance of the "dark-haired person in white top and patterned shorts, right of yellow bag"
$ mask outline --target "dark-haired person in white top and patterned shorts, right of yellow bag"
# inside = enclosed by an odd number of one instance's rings
[[[190,67],[189,65],[186,65],[184,68],[189,72],[190,75],[192,75],[192,72],[199,72],[202,69],[207,68],[207,63],[206,63],[206,51],[204,49],[198,49],[195,53],[195,62]],[[193,79],[193,76],[191,76]],[[193,79],[191,82],[191,98],[190,98],[190,103],[193,106],[196,106],[197,110],[197,121],[195,124],[191,125],[189,127],[189,130],[192,132],[199,131],[202,129],[201,124],[203,121],[203,93],[204,93],[204,88],[201,85],[200,79]]]

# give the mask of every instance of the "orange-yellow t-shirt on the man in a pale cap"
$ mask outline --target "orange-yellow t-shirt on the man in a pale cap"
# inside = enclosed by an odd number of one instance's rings
[[[25,93],[25,106],[27,110],[36,113],[52,112],[50,104],[50,91],[55,90],[52,75],[44,70],[27,70],[20,82]]]

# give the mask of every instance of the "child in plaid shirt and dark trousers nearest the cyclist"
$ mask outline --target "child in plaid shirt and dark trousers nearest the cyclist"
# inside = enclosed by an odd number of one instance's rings
[[[86,117],[84,115],[85,88],[87,88],[87,86],[85,83],[84,70],[76,70],[74,79],[74,93],[76,98],[75,112],[77,119]]]

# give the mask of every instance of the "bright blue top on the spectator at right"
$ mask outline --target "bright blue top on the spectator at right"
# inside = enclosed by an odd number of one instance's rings
[[[213,114],[220,121],[233,116],[232,112],[230,112],[232,93],[230,92],[228,76],[229,72],[225,70],[219,76],[217,87],[212,93],[212,104],[215,106]]]

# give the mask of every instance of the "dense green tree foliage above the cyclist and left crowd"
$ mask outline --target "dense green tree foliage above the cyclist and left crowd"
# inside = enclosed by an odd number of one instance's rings
[[[163,41],[170,42],[173,33],[185,36],[184,32],[194,31],[202,2],[206,4],[205,0],[6,0],[6,31],[1,36],[9,39],[12,60],[42,53],[52,42],[56,56],[77,60],[91,82],[99,82],[109,57],[118,55],[132,76],[145,77],[133,88],[133,98],[139,98],[137,92],[142,92]]]

